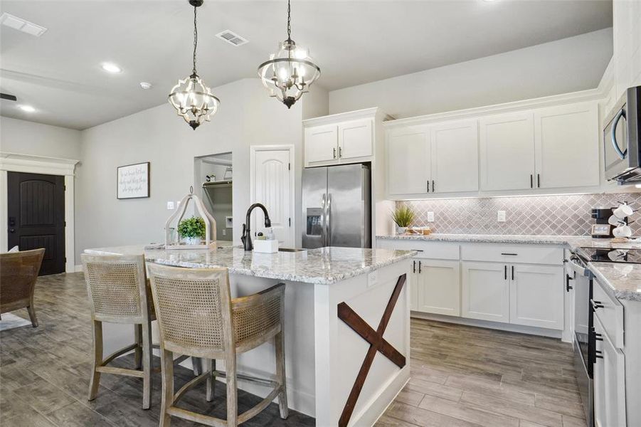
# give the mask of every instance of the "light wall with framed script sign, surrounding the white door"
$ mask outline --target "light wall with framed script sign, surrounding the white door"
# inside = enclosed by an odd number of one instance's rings
[[[238,80],[213,88],[213,93],[221,106],[211,122],[196,130],[167,104],[83,131],[76,253],[162,241],[164,223],[171,214],[166,202],[181,199],[194,184],[194,157],[220,152],[233,153],[233,236],[240,243],[240,226],[250,204],[249,147],[293,144],[302,159],[300,105],[287,110],[267,96],[258,79]],[[136,162],[151,162],[151,196],[116,199],[116,168]],[[298,193],[300,188],[296,197],[300,211]]]

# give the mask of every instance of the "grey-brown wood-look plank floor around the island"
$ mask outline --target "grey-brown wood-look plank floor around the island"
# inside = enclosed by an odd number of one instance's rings
[[[82,273],[39,278],[35,305],[39,327],[0,332],[1,426],[158,425],[159,374],[148,411],[135,378],[105,374],[97,399],[87,401],[91,336]],[[27,317],[26,310],[14,314]],[[412,379],[377,426],[585,426],[569,344],[425,320],[412,320],[411,332]],[[176,386],[193,375],[175,373]],[[184,406],[224,418],[224,396],[223,384],[213,404],[194,389]],[[238,400],[244,411],[259,399],[240,391]],[[290,411],[282,421],[272,404],[243,426],[314,426],[314,419]]]

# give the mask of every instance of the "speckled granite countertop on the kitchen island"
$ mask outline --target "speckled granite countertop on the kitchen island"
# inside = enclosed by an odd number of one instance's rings
[[[144,253],[149,263],[185,268],[226,267],[230,274],[292,282],[331,285],[378,268],[398,263],[415,251],[361,248],[318,248],[302,252],[255,253],[243,248],[219,245],[211,250],[144,249],[143,245],[87,249],[97,255],[135,255]]]

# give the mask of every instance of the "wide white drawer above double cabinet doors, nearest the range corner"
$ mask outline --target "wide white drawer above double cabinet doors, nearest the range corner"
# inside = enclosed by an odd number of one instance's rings
[[[463,245],[462,260],[563,265],[563,248],[522,245]]]

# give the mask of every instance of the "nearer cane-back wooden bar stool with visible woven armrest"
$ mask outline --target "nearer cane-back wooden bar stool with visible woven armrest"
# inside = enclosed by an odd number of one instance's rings
[[[226,268],[174,268],[150,264],[149,276],[160,330],[162,404],[160,426],[168,427],[171,416],[207,426],[238,426],[263,411],[276,397],[280,417],[288,415],[285,381],[283,315],[285,283],[247,297],[231,300]],[[275,339],[276,379],[260,379],[236,372],[236,354],[248,352]],[[211,359],[211,369],[185,384],[174,394],[174,353]],[[216,371],[216,359],[226,371]],[[227,420],[186,411],[175,406],[188,389],[207,381],[206,399],[213,399],[213,380],[226,379]],[[238,415],[236,380],[270,386],[270,394],[253,408]]]

